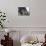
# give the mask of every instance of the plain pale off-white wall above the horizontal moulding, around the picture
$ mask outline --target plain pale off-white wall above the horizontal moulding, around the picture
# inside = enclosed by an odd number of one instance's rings
[[[18,16],[21,6],[30,8],[30,16]],[[0,0],[0,9],[6,12],[7,27],[46,27],[46,0]]]

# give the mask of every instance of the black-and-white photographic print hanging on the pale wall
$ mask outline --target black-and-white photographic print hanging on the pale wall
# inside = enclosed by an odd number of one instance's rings
[[[29,7],[18,7],[19,16],[30,16]]]

